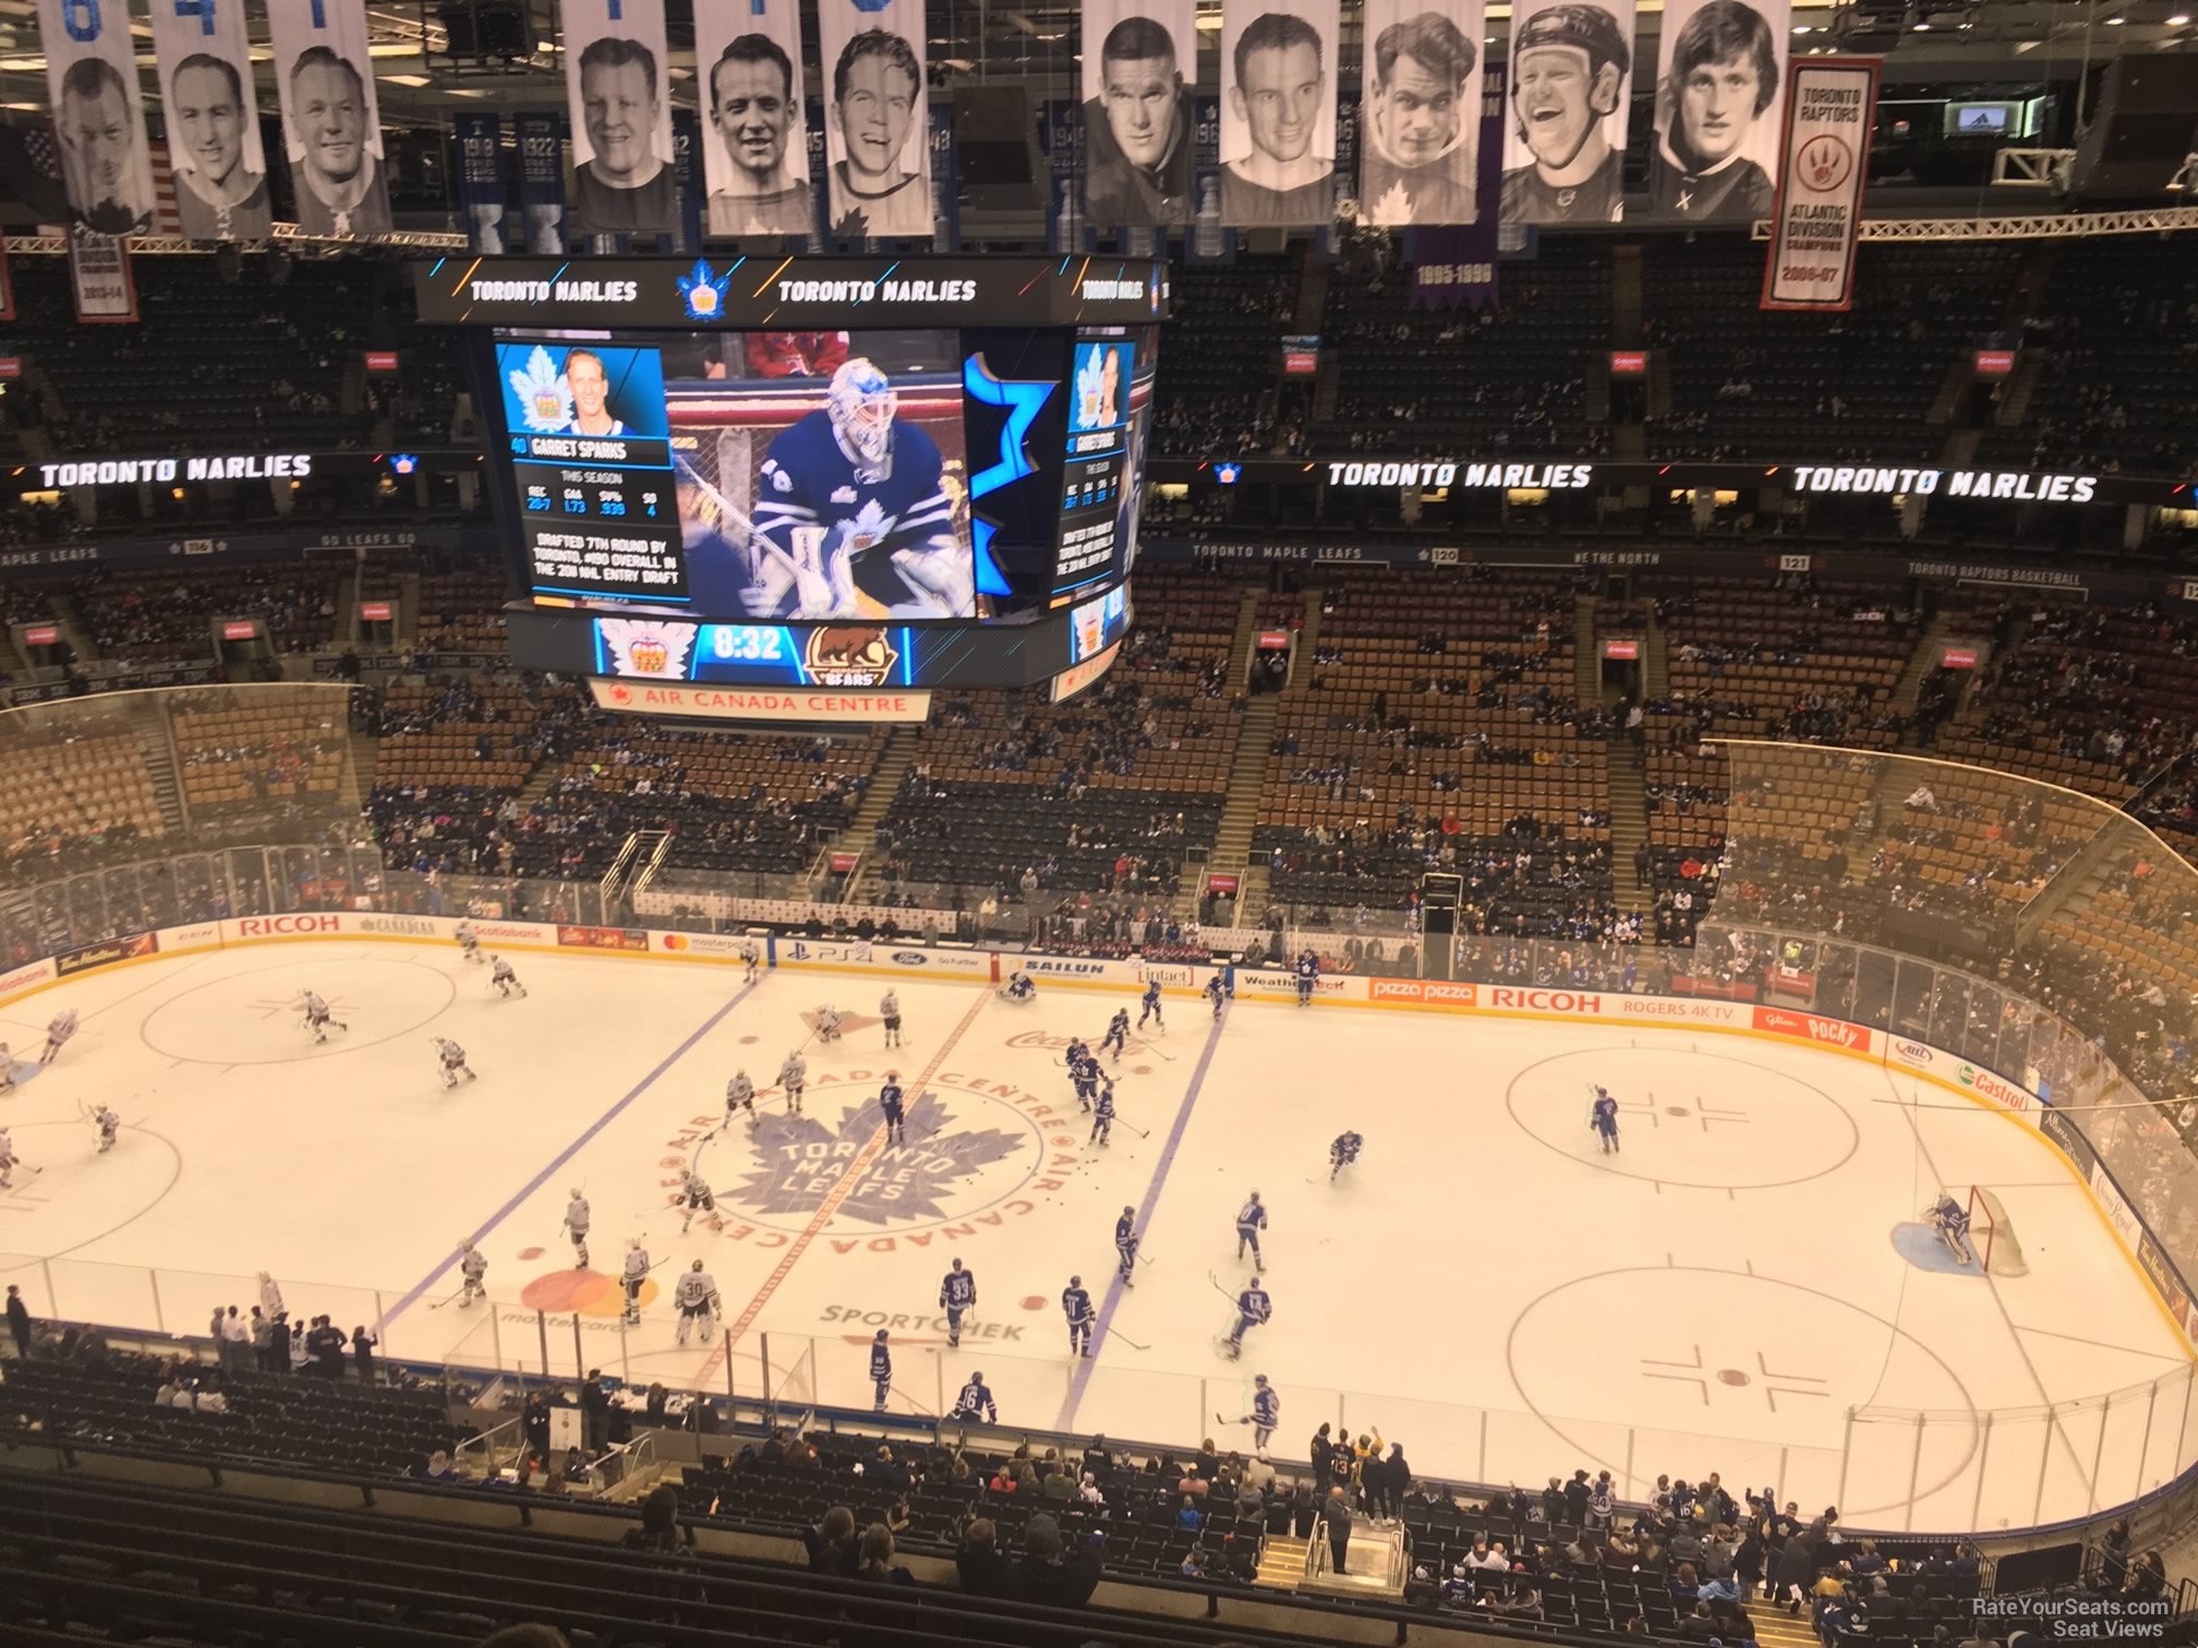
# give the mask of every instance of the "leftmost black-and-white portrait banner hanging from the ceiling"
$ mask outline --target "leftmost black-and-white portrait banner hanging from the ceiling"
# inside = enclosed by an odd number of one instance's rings
[[[46,92],[62,141],[62,182],[75,222],[101,235],[143,235],[154,220],[152,152],[138,103],[130,9],[37,0]]]

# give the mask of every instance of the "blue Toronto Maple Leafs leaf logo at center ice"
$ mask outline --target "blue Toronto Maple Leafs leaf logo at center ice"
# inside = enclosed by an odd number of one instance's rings
[[[840,1215],[875,1226],[945,1220],[965,1180],[1022,1145],[1018,1134],[998,1127],[954,1132],[954,1112],[925,1092],[908,1110],[908,1143],[886,1145],[864,1160],[879,1129],[877,1101],[844,1107],[837,1127],[818,1116],[765,1118],[756,1127],[761,1165],[730,1200],[750,1213],[807,1215],[855,1173]]]

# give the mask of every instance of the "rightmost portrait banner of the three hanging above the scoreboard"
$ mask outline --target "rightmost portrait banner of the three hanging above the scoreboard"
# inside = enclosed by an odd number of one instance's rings
[[[833,233],[930,237],[923,0],[818,0],[818,44]]]

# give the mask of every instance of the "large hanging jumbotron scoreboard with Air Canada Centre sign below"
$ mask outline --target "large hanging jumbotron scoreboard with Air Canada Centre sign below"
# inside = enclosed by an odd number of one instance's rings
[[[1130,622],[1165,264],[473,259],[512,657],[618,710],[921,719]]]

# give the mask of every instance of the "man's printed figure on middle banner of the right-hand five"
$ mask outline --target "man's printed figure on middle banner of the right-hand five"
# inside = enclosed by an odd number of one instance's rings
[[[1466,108],[1479,48],[1440,11],[1391,22],[1374,40],[1358,211],[1369,224],[1470,224],[1473,143]],[[1470,121],[1466,119],[1470,112]]]

